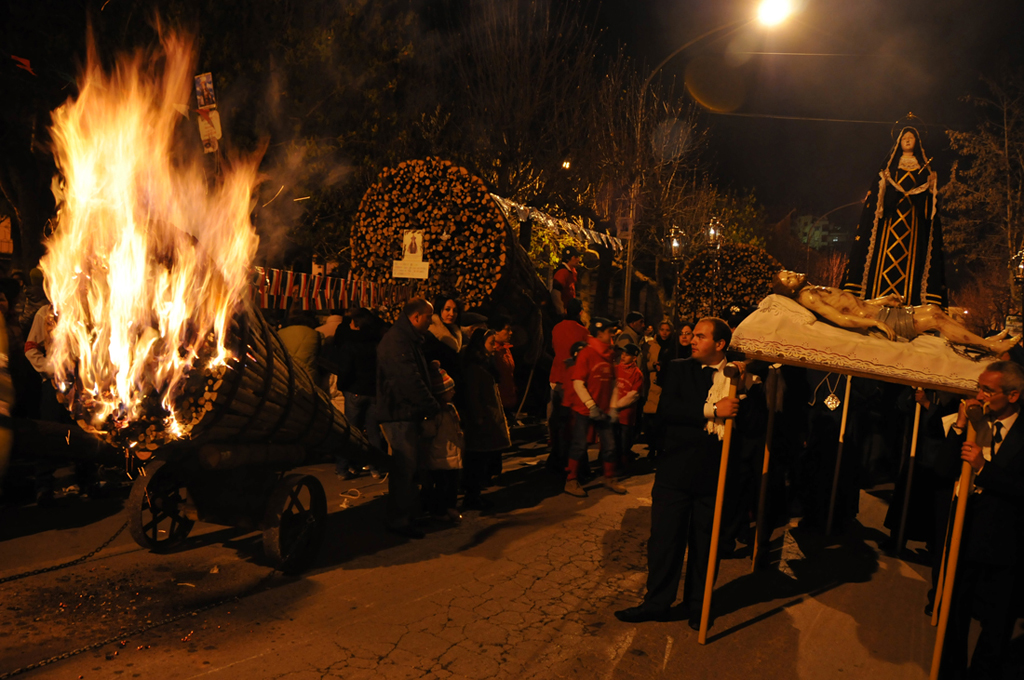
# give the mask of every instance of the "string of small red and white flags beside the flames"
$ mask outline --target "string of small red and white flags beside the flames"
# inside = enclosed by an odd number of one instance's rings
[[[353,277],[352,272],[341,278],[269,267],[255,269],[251,292],[261,309],[287,309],[290,300],[302,305],[303,311],[379,309],[404,302],[416,294],[416,284],[382,284]]]

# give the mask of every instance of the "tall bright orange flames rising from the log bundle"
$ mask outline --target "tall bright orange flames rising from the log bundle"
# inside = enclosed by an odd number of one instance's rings
[[[47,357],[95,431],[160,403],[166,437],[187,435],[175,399],[201,354],[206,367],[228,360],[229,324],[248,295],[259,158],[211,182],[201,154],[182,150],[176,132],[198,134],[180,113],[193,54],[190,39],[164,35],[162,50],[108,73],[90,40],[78,97],[52,115],[58,213],[40,262],[56,313]]]

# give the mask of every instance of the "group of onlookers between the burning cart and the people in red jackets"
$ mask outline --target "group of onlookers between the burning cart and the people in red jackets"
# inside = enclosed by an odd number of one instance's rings
[[[293,318],[280,331],[296,360],[314,324]],[[321,345],[307,370],[346,420],[390,453],[387,529],[423,538],[424,515],[458,524],[462,510],[488,509],[483,491],[501,472],[517,407],[508,317],[467,311],[452,294],[410,300],[391,325],[357,308],[315,330]],[[339,475],[379,476],[352,455],[337,454]]]

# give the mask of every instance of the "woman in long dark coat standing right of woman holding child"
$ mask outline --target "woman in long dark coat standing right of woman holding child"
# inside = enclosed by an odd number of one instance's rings
[[[495,350],[495,332],[475,331],[462,353],[462,383],[456,385],[456,403],[466,437],[463,452],[466,496],[462,507],[469,510],[490,506],[480,494],[489,484],[488,470],[495,457],[500,460],[501,452],[512,443],[498,393]]]

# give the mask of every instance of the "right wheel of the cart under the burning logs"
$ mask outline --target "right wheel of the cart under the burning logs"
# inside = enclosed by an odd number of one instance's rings
[[[263,516],[263,552],[285,573],[307,568],[319,553],[327,497],[316,477],[290,474],[278,482]]]

